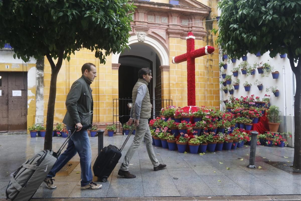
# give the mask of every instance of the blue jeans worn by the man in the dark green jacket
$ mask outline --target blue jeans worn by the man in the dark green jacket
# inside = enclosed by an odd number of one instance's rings
[[[67,126],[67,130],[71,129],[73,129],[73,127]],[[78,153],[80,158],[81,186],[90,184],[93,179],[91,170],[92,151],[87,130],[80,130],[73,134],[68,142],[67,149],[58,157],[57,162],[54,164],[47,177],[54,177],[55,174],[76,155],[76,153]]]

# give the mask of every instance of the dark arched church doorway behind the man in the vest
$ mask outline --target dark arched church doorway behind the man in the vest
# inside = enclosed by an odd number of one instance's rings
[[[161,62],[157,53],[141,43],[130,45],[131,49],[125,50],[120,56],[118,63],[118,89],[119,89],[119,121],[124,124],[129,120],[132,103],[132,89],[138,80],[138,71],[141,68],[150,68],[153,79],[148,84],[150,99],[153,105],[153,115],[160,112],[161,101]],[[155,106],[155,108],[154,108]]]

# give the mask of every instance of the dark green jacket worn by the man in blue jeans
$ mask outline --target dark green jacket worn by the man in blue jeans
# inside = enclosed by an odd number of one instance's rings
[[[82,75],[76,80],[67,95],[67,112],[63,123],[73,127],[77,123],[82,125],[92,124],[93,121],[93,98],[90,82]]]

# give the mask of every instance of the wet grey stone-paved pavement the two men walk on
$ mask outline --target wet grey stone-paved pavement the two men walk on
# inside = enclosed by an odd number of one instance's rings
[[[125,138],[104,136],[104,146],[120,147]],[[132,138],[123,149],[123,156]],[[56,151],[64,140],[54,137],[53,149]],[[91,137],[90,142],[93,166],[98,151],[97,137]],[[43,146],[41,137],[0,135],[0,201],[5,200],[11,173]],[[250,146],[203,155],[178,153],[156,146],[154,152],[159,162],[167,165],[166,169],[153,171],[142,142],[129,168],[137,176],[135,179],[117,175],[122,156],[108,181],[99,182],[103,185],[101,190],[80,190],[78,164],[69,176],[54,177],[55,190],[42,184],[32,200],[301,200],[301,175],[292,175],[265,163],[268,160],[292,163],[293,148],[290,147],[256,146],[256,169],[247,168]],[[79,156],[74,156],[72,161],[79,161]]]

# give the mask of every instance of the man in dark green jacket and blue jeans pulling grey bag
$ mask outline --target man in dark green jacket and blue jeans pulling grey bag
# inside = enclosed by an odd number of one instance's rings
[[[87,130],[83,130],[83,125],[92,125],[93,120],[93,99],[90,84],[96,77],[96,67],[92,63],[85,63],[82,66],[82,77],[76,80],[67,95],[66,107],[67,113],[63,123],[67,126],[67,130],[78,129],[68,142],[67,149],[62,153],[54,167],[44,180],[46,186],[50,189],[56,188],[53,184],[52,177],[66,165],[66,163],[76,153],[79,154],[81,168],[81,189],[97,190],[102,187],[92,181],[93,175],[91,170],[92,151]],[[69,133],[70,134],[70,133]]]

